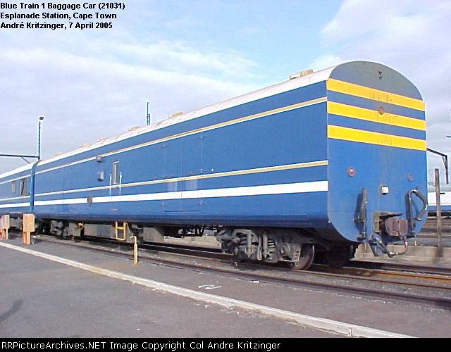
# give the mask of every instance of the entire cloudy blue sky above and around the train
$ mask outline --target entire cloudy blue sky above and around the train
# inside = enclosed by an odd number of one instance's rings
[[[113,30],[0,30],[0,152],[35,151],[39,115],[51,157],[144,125],[146,101],[161,120],[360,59],[390,65],[420,88],[428,144],[451,152],[449,0],[126,4]],[[20,165],[1,159],[0,172]]]

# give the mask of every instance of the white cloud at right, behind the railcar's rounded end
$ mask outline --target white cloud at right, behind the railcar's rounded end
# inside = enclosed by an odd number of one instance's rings
[[[326,54],[312,65],[369,60],[389,65],[426,101],[428,145],[451,153],[451,1],[347,0],[321,31]],[[430,167],[442,167],[430,156]]]

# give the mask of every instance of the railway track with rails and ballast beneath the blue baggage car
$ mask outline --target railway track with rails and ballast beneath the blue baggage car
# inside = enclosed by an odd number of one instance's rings
[[[118,244],[117,241],[108,239],[75,242],[41,235],[35,241],[76,246],[125,258],[132,257],[130,244]],[[114,248],[111,248],[111,245]],[[352,262],[352,266],[339,270],[333,270],[326,265],[314,265],[309,271],[295,271],[281,268],[280,265],[236,263],[231,256],[218,250],[166,244],[140,244],[140,260],[171,268],[221,273],[249,281],[435,308],[451,308],[451,272],[445,268],[414,265],[403,267],[399,264],[378,264],[378,268],[370,268],[371,265],[366,262]]]

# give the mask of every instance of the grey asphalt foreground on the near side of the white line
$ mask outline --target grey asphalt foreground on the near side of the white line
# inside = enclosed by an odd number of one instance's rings
[[[336,336],[161,294],[4,248],[0,258],[1,338]],[[109,266],[132,269],[125,260],[101,259]]]

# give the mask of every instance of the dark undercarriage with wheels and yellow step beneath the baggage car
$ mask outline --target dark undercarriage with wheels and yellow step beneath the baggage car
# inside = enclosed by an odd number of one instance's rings
[[[168,238],[216,237],[224,253],[233,254],[240,261],[284,263],[288,268],[307,270],[314,261],[338,268],[354,257],[352,244],[333,245],[319,240],[315,230],[280,228],[233,227],[176,227],[129,224],[67,222],[63,220],[39,221],[38,231],[57,237],[103,237],[117,241],[163,243]]]

